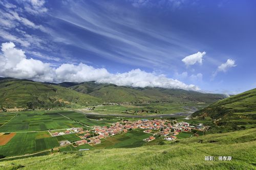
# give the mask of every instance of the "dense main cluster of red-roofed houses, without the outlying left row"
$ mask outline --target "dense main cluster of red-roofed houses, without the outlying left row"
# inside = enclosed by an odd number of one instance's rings
[[[94,126],[93,132],[96,136],[92,136],[89,132],[80,136],[82,139],[87,139],[89,144],[99,144],[100,139],[103,139],[108,136],[113,136],[118,133],[125,133],[133,129],[145,129],[143,132],[151,133],[153,136],[143,139],[144,141],[154,140],[154,135],[164,136],[166,140],[175,140],[180,132],[190,132],[191,129],[203,128],[203,125],[198,127],[191,126],[189,123],[172,123],[166,119],[141,119],[135,122],[129,120],[123,120],[122,122],[113,123],[110,127],[107,126]],[[155,130],[155,133],[152,133],[152,130]]]

